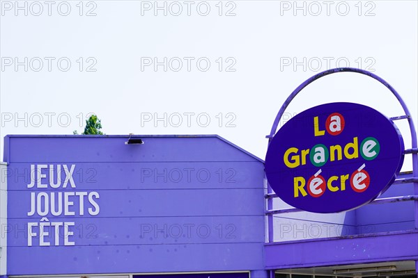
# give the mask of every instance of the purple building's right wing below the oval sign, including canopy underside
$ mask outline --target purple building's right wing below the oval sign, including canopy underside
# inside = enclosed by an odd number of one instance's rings
[[[412,173],[398,178],[412,179]],[[413,184],[394,184],[378,199],[330,214],[293,212],[277,200],[274,209],[284,213],[272,215],[274,241],[265,245],[265,268],[279,277],[417,277]]]

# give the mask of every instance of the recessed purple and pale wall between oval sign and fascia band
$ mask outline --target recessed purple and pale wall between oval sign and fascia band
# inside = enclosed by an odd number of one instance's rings
[[[399,179],[412,174],[400,174]],[[379,198],[414,195],[412,183],[394,184]],[[274,208],[288,205],[274,199]],[[274,215],[274,241],[306,240],[373,234],[389,231],[408,231],[414,227],[414,202],[368,204],[343,213],[281,213]]]

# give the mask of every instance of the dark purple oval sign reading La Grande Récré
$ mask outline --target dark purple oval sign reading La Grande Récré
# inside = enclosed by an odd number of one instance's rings
[[[314,213],[371,202],[394,181],[403,139],[391,120],[361,104],[323,104],[296,115],[268,146],[265,174],[287,204]]]

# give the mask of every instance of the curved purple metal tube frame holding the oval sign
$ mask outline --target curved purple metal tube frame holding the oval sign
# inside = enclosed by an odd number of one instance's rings
[[[279,121],[281,119],[281,116],[283,116],[284,111],[288,107],[288,105],[291,103],[291,101],[296,97],[296,95],[307,85],[310,83],[316,81],[317,79],[320,79],[323,76],[327,76],[329,74],[335,74],[337,72],[357,72],[359,74],[364,74],[366,76],[370,76],[373,79],[376,79],[385,87],[387,87],[398,99],[399,103],[401,104],[403,111],[405,112],[404,116],[400,117],[392,117],[390,120],[402,120],[402,119],[408,119],[408,123],[410,126],[410,133],[411,133],[411,140],[412,140],[412,149],[405,149],[405,154],[412,154],[412,179],[403,179],[398,180],[397,183],[407,183],[411,182],[414,183],[414,195],[412,196],[401,196],[401,197],[389,197],[389,198],[382,198],[382,199],[376,199],[373,201],[374,204],[379,203],[385,203],[385,202],[401,202],[401,201],[415,201],[415,229],[418,229],[418,146],[417,146],[417,131],[415,130],[414,122],[412,121],[412,117],[410,115],[410,111],[408,110],[408,107],[406,106],[405,102],[401,98],[401,96],[396,92],[396,90],[387,83],[384,79],[380,78],[376,74],[373,74],[371,72],[367,72],[366,70],[357,69],[354,67],[339,67],[331,70],[325,70],[324,72],[320,72],[311,78],[304,81],[302,84],[300,84],[292,93],[289,95],[289,97],[284,101],[284,104],[281,106],[279,113],[277,113],[277,116],[274,120],[274,123],[272,125],[272,129],[270,131],[270,135],[266,136],[268,138],[268,142],[270,144],[274,134],[276,133],[277,126],[279,125]],[[396,182],[396,181],[395,181]],[[268,241],[270,243],[273,242],[273,214],[277,213],[290,213],[295,211],[301,211],[297,208],[290,208],[290,209],[284,209],[284,210],[272,210],[272,198],[276,197],[276,195],[272,192],[272,188],[270,185],[268,185],[268,194],[266,195],[266,198],[268,198],[268,210],[266,211],[266,215],[268,215],[268,231],[269,231],[269,238]]]

